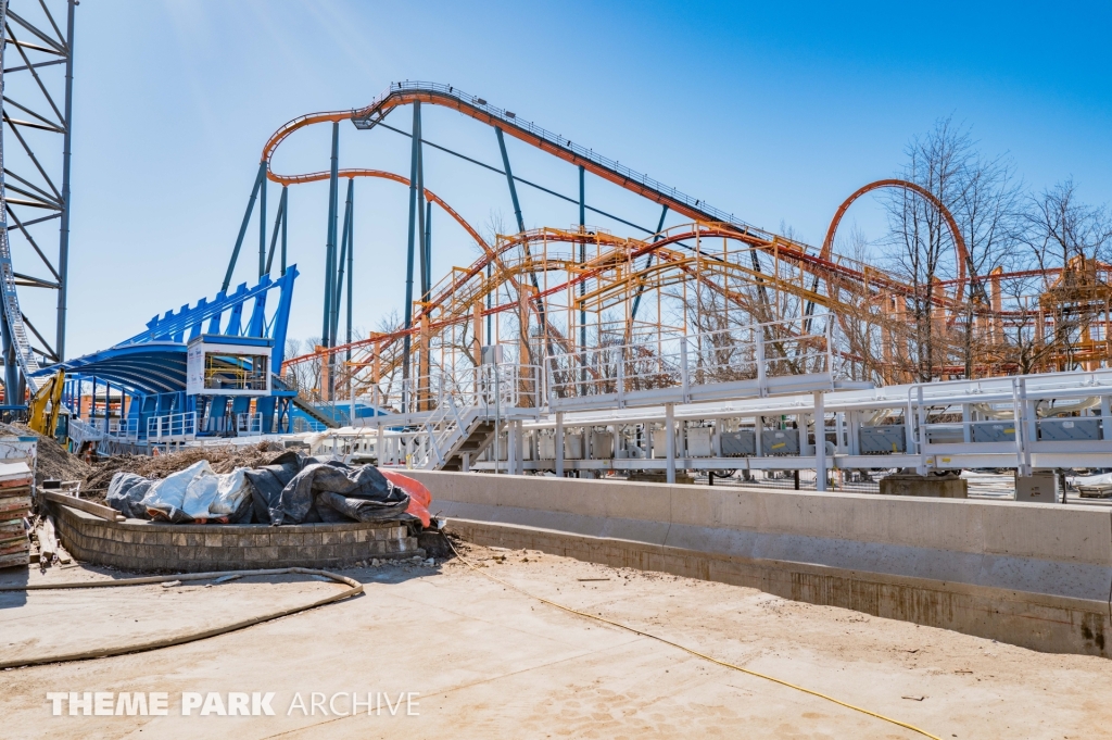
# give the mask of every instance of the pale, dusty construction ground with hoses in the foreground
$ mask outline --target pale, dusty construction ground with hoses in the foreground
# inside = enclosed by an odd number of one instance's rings
[[[545,605],[481,575],[490,573],[940,738],[1112,738],[1108,660],[537,552],[466,552],[485,570],[449,561],[345,571],[365,595],[188,645],[0,672],[0,737],[923,737]],[[125,575],[82,566],[30,580]],[[0,583],[19,579],[0,571]],[[0,594],[0,660],[219,624],[339,588],[282,576]],[[63,702],[53,716],[47,692],[70,691],[113,701],[166,692],[168,714],[71,717]],[[275,714],[219,716],[214,703],[186,717],[183,692],[220,693],[221,709],[229,692],[274,692]],[[370,709],[342,716],[353,692],[359,702],[369,694]]]

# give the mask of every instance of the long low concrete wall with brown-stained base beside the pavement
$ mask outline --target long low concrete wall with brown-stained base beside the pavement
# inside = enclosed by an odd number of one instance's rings
[[[467,536],[1112,657],[1112,511],[409,473]]]

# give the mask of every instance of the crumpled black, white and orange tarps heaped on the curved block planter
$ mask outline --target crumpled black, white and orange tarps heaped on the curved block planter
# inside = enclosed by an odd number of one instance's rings
[[[410,521],[429,525],[428,490],[374,465],[347,465],[289,451],[250,467],[232,467],[222,460],[226,472],[220,472],[200,455],[185,467],[179,467],[188,462],[185,455],[176,457],[178,470],[165,477],[113,473],[108,504],[128,517],[177,524]]]

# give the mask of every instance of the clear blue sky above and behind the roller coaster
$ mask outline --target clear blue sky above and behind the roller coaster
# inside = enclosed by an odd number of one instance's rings
[[[359,107],[393,80],[453,83],[758,226],[821,243],[854,189],[891,175],[941,117],[1009,154],[1032,188],[1072,176],[1112,200],[1110,3],[360,2],[85,0],[78,9],[69,355],[219,288],[268,136]],[[391,117],[408,127],[408,110]],[[444,110],[425,137],[498,164],[494,132]],[[408,172],[408,140],[341,127],[341,166]],[[509,142],[515,174],[574,195],[574,168]],[[286,171],[326,169],[328,131]],[[427,186],[476,225],[505,180],[429,154]],[[401,308],[406,193],[356,185],[356,324]],[[654,225],[658,207],[588,180],[588,200]],[[270,190],[271,214],[278,188]],[[326,185],[291,190],[302,273],[290,334],[319,333]],[[576,208],[523,190],[527,226]],[[434,217],[434,278],[469,263]],[[597,225],[622,228],[606,224]],[[878,236],[880,207],[851,210]],[[254,282],[252,226],[237,280]],[[26,302],[33,303],[29,297]]]

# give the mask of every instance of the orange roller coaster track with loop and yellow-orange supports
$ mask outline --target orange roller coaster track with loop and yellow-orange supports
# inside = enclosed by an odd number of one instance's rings
[[[969,255],[955,219],[930,190],[905,180],[877,180],[856,190],[835,213],[822,248],[814,249],[752,227],[480,98],[430,83],[395,83],[365,108],[294,119],[268,139],[260,165],[267,179],[284,186],[329,179],[327,171],[276,172],[272,157],[282,141],[308,126],[351,120],[369,129],[391,110],[417,102],[447,107],[496,127],[691,223],[644,239],[580,226],[498,235],[495,244],[488,244],[443,198],[423,187],[425,198],[443,208],[478,245],[479,258],[453,268],[433,286],[426,300],[415,300],[408,329],[398,327],[319,348],[287,359],[285,371],[312,363],[324,373],[329,364],[326,354],[349,353],[350,361],[335,369],[336,387],[350,385],[358,395],[397,407],[407,398],[400,368],[408,346],[409,364],[417,368],[417,377],[408,381],[413,389],[408,411],[428,411],[436,404],[428,388],[439,387],[429,378],[474,367],[483,345],[502,344],[507,362],[553,374],[586,368],[589,363],[582,362],[586,353],[635,347],[641,361],[656,363],[665,372],[667,346],[675,337],[697,336],[701,343],[705,338],[709,352],[728,356],[743,344],[738,337],[745,327],[777,323],[775,329],[763,329],[765,342],[780,347],[784,362],[791,364],[802,349],[788,349],[792,342],[825,330],[816,324],[833,322],[842,376],[881,383],[917,379],[922,363],[916,356],[915,327],[909,324],[909,306],[923,296],[901,276],[835,251],[834,238],[846,210],[881,188],[923,198],[939,210],[952,236],[954,274],[935,278],[930,297],[939,346],[929,363],[933,375],[961,376],[971,347],[976,376],[1112,364],[1112,289],[1108,288],[1112,268],[1082,260],[1039,273],[993,270],[986,278],[976,278],[989,284],[991,305],[984,305],[970,297]],[[409,178],[379,169],[338,169],[337,177],[410,185]],[[1036,295],[1024,298],[1032,286]],[[816,307],[823,309],[821,315]],[[629,351],[624,352],[628,355]]]

